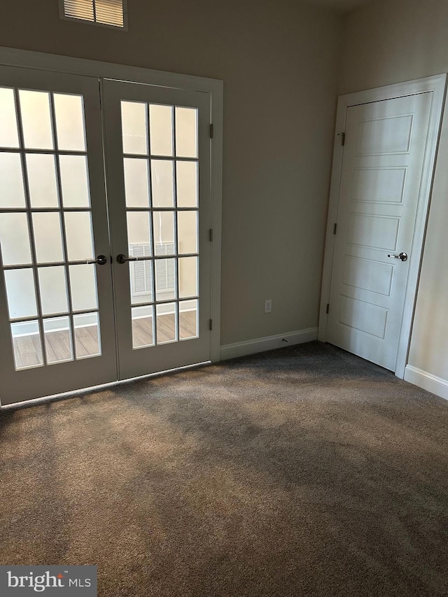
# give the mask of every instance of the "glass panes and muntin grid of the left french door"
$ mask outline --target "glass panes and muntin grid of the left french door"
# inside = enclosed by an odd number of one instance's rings
[[[0,124],[0,257],[15,370],[100,356],[83,96],[0,87]]]

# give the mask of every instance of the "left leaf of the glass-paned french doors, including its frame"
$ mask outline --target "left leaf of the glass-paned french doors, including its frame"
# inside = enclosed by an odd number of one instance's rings
[[[98,80],[1,68],[3,405],[116,377],[103,172]]]

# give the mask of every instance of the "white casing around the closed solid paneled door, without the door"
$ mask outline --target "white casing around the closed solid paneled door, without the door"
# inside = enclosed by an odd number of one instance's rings
[[[423,162],[423,174],[416,211],[414,238],[409,258],[409,273],[405,292],[405,304],[402,312],[398,354],[395,364],[395,376],[403,379],[409,353],[409,344],[414,318],[414,307],[419,284],[421,258],[426,234],[426,224],[433,185],[435,160],[442,125],[442,111],[447,87],[447,73],[386,85],[370,90],[341,95],[337,101],[337,116],[335,123],[335,143],[333,148],[332,174],[330,182],[330,200],[328,205],[327,231],[325,234],[325,253],[323,259],[323,275],[321,287],[321,304],[319,309],[318,340],[326,342],[328,314],[327,305],[330,302],[330,287],[333,257],[335,251],[335,234],[333,226],[337,223],[339,206],[339,190],[342,176],[342,162],[344,147],[342,145],[343,132],[346,125],[347,109],[360,104],[370,104],[374,101],[394,99],[424,92],[433,92],[430,120],[428,126],[428,141]]]

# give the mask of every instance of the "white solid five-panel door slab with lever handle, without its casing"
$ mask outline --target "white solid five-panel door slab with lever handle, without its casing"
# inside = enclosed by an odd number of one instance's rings
[[[395,370],[433,94],[351,106],[327,340]]]

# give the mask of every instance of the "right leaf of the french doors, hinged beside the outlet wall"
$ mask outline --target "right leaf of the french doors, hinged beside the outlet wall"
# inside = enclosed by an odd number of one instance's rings
[[[209,94],[103,90],[119,377],[209,360]]]

